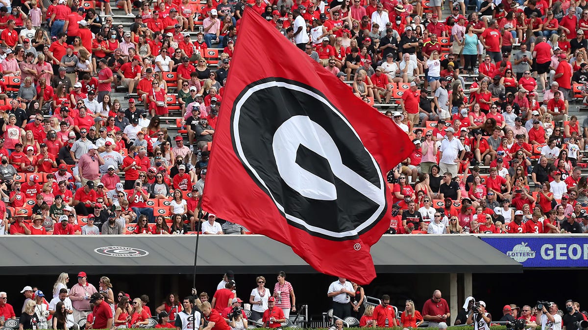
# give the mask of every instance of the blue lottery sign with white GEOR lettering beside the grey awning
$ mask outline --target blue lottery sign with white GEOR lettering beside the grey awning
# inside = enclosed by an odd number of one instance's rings
[[[480,237],[523,267],[588,267],[588,237]]]

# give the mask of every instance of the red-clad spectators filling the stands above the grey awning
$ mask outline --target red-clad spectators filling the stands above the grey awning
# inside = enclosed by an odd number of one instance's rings
[[[389,233],[588,232],[585,0],[31,0],[0,4],[0,234],[248,233],[199,207],[246,6],[413,140]]]

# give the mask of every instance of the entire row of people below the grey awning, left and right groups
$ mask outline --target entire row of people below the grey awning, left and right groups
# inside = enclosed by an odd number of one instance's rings
[[[0,292],[0,326],[24,329],[125,329],[125,328],[172,328],[178,330],[243,330],[248,324],[263,328],[280,328],[287,320],[295,318],[296,297],[285,272],[279,272],[273,287],[266,287],[266,278],[255,278],[256,285],[245,295],[237,291],[235,274],[227,271],[213,288],[215,293],[192,289],[183,299],[175,293],[166,294],[165,301],[150,304],[148,295],[133,298],[123,291],[114,291],[108,277],[99,278],[98,287],[88,282],[88,275],[81,271],[77,282],[68,288],[69,275],[61,273],[47,294],[36,287],[25,286],[21,290],[24,304],[16,311],[10,302],[18,298]],[[240,286],[239,286],[240,287]],[[52,292],[49,294],[49,292]],[[239,298],[241,295],[245,300]],[[376,301],[369,301],[361,285],[339,277],[329,285],[326,295],[333,299],[332,324],[343,328],[343,321],[362,328],[387,328],[401,326],[404,329],[420,325],[445,329],[448,325],[473,325],[475,330],[489,330],[492,322],[510,322],[510,328],[576,330],[586,321],[586,312],[580,312],[579,302],[567,300],[562,310],[554,302],[537,302],[533,305],[507,304],[502,315],[492,316],[487,312],[486,302],[466,297],[457,315],[450,313],[449,304],[440,290],[423,302],[419,311],[412,299],[405,301],[404,310],[390,304],[385,294]],[[371,298],[375,300],[375,298]],[[155,307],[155,309],[152,309]],[[305,307],[303,307],[305,308]],[[491,308],[494,309],[494,308]],[[495,309],[494,309],[495,310]],[[18,325],[9,320],[16,320]],[[292,316],[292,317],[291,317]],[[349,317],[355,318],[355,321]],[[520,319],[519,326],[515,320]],[[307,320],[308,321],[308,320]],[[427,324],[423,324],[427,322]]]

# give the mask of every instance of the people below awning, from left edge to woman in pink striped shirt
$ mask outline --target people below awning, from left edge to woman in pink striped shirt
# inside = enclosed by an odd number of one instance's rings
[[[249,318],[266,328],[278,328],[290,311],[296,312],[296,297],[285,272],[279,272],[273,294],[265,288],[265,277],[256,278],[257,285],[247,297],[248,312],[237,297],[234,273],[227,271],[210,297],[192,289],[179,299],[177,294],[149,308],[148,295],[133,298],[123,291],[113,291],[108,277],[100,277],[98,286],[88,282],[86,272],[79,272],[76,284],[68,288],[69,275],[61,273],[53,288],[45,291],[27,285],[21,291],[24,304],[16,311],[6,292],[0,292],[0,326],[14,329],[127,329],[171,328],[178,330],[243,330]],[[52,292],[52,294],[49,294]],[[18,325],[10,324],[16,319]],[[286,316],[285,316],[286,315]],[[171,320],[171,321],[170,321]],[[7,323],[8,322],[8,323]]]

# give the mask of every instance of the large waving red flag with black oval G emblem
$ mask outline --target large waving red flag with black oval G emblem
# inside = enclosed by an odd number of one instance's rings
[[[390,225],[386,173],[413,147],[392,120],[247,9],[203,208],[290,245],[315,270],[368,284],[376,277],[370,247]]]

